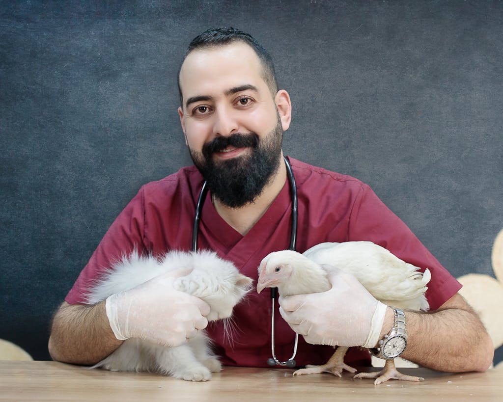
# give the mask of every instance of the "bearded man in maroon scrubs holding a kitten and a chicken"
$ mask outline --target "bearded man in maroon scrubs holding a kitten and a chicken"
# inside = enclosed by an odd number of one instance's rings
[[[196,167],[143,186],[112,224],[55,314],[49,340],[55,360],[94,364],[129,337],[175,346],[206,327],[209,307],[171,287],[177,274],[154,278],[95,306],[83,305],[86,288],[122,255],[134,249],[154,255],[191,249],[195,205],[205,179],[210,191],[201,211],[199,249],[215,250],[256,280],[261,259],[289,246],[292,201],[281,144],[290,126],[291,102],[277,88],[267,51],[235,29],[206,31],[189,46],[179,86],[178,112]],[[457,293],[461,285],[409,229],[357,179],[289,160],[298,187],[297,250],[326,241],[369,240],[413,265],[428,267],[432,281],[427,297],[434,312],[405,313],[409,341],[402,356],[443,371],[485,370],[493,357],[487,332]],[[314,307],[309,307],[312,295],[302,296],[306,308],[280,298],[282,313],[288,320],[296,310],[296,319],[310,324],[311,340],[330,339],[336,345],[349,338],[352,346],[363,345],[355,340],[367,338],[370,323],[348,330],[337,311],[365,320],[373,312],[364,300],[372,296],[354,278],[348,286],[351,300],[334,291]],[[232,342],[219,323],[208,326],[224,364],[267,366],[271,300],[265,293],[252,292],[236,306]],[[310,321],[313,309],[326,325]],[[379,339],[393,326],[391,308],[382,319],[382,326],[373,329]],[[285,360],[292,353],[294,333],[281,318],[276,339],[276,354]],[[299,366],[322,364],[332,352],[331,346],[308,344],[300,337],[295,360]],[[351,364],[370,360],[359,348],[350,349],[346,358]]]

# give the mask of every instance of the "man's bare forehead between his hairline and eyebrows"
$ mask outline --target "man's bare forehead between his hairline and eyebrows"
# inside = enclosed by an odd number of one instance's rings
[[[244,84],[267,89],[259,56],[243,42],[194,50],[180,69],[184,99],[213,96]]]

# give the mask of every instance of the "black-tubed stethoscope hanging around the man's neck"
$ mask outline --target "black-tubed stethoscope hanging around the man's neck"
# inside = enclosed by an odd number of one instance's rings
[[[295,243],[297,240],[297,185],[295,184],[295,177],[293,175],[292,166],[288,159],[283,156],[286,165],[286,172],[288,176],[288,181],[290,183],[290,191],[292,197],[292,229],[290,232],[290,250],[295,250]],[[208,193],[208,184],[205,181],[203,186],[201,187],[201,192],[199,193],[199,198],[197,200],[196,205],[196,214],[194,215],[194,229],[192,231],[192,250],[197,251],[197,236],[199,233],[199,221],[201,220],[201,211],[204,204],[204,199],[206,198],[206,194]],[[295,334],[295,343],[293,345],[293,353],[292,356],[286,361],[280,361],[276,357],[274,345],[274,308],[276,303],[276,298],[278,297],[278,288],[271,288],[271,299],[272,299],[272,314],[271,314],[271,352],[273,357],[270,357],[267,360],[267,364],[270,366],[280,365],[287,367],[295,367],[295,355],[297,354],[297,344],[299,341],[299,334]]]

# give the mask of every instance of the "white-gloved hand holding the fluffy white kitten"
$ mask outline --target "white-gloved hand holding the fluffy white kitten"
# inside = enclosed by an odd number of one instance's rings
[[[159,275],[109,296],[105,307],[115,337],[179,346],[196,336],[198,330],[206,328],[209,305],[173,286],[175,279],[187,273],[183,268]]]

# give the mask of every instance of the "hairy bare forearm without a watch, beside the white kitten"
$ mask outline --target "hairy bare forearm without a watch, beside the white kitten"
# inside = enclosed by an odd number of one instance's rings
[[[63,303],[52,323],[49,353],[57,361],[91,365],[112,353],[121,342],[110,328],[104,302],[95,306]]]

